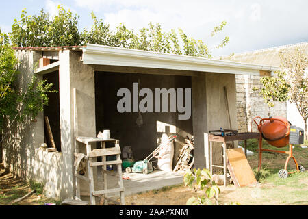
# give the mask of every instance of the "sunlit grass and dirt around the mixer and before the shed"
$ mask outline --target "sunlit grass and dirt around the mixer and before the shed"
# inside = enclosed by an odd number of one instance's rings
[[[236,188],[235,185],[220,186],[220,205],[238,202],[240,205],[308,205],[308,149],[295,146],[294,157],[298,164],[306,168],[305,172],[290,174],[286,179],[278,176],[284,168],[287,155],[282,153],[262,153],[262,167],[257,171],[258,154],[257,140],[248,140],[247,149],[255,154],[248,156],[248,162],[255,173],[259,185],[255,187]],[[305,142],[308,145],[308,142]],[[243,146],[243,145],[241,145]],[[265,149],[288,151],[286,146],[277,149],[263,142]],[[295,170],[293,160],[290,160],[288,170]],[[202,192],[194,192],[183,185],[162,188],[125,197],[127,205],[185,205],[188,198],[200,196]]]

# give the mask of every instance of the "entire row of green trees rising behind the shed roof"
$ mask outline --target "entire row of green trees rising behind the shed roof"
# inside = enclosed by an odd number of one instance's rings
[[[190,55],[198,57],[212,57],[211,50],[202,40],[189,37],[182,29],[171,29],[162,31],[159,24],[149,23],[148,27],[138,32],[127,29],[124,23],[116,27],[116,31],[110,30],[110,25],[98,20],[92,12],[92,27],[79,32],[79,16],[73,15],[70,10],[65,10],[62,5],[58,6],[58,14],[50,18],[47,12],[41,10],[39,15],[27,16],[26,10],[22,10],[21,19],[14,20],[12,33],[10,33],[12,44],[15,47],[52,47],[73,46],[84,44],[102,44],[112,47],[123,47],[129,49],[141,49],[162,53],[174,53],[179,55]],[[214,27],[211,36],[222,31],[226,21]],[[229,42],[225,37],[214,49],[224,47]]]

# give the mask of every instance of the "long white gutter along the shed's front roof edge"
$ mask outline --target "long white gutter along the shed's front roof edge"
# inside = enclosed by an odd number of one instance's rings
[[[124,49],[97,44],[87,44],[82,50],[84,64],[250,75],[259,75],[260,70],[274,71],[278,69],[275,66],[244,64],[226,60],[212,60],[203,57]]]

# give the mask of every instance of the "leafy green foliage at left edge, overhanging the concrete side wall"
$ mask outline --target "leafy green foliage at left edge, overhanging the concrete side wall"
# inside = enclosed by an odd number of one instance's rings
[[[44,105],[48,105],[47,94],[56,92],[52,89],[52,83],[40,81],[35,76],[25,91],[16,88],[14,82],[18,75],[17,64],[18,60],[9,44],[9,38],[0,29],[0,133],[5,119],[8,119],[11,125],[22,123],[26,118],[34,119]]]

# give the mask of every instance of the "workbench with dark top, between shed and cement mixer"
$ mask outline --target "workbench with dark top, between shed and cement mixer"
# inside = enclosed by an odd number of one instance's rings
[[[241,141],[244,140],[244,150],[245,156],[247,157],[247,140],[256,138],[259,144],[260,133],[259,132],[244,132],[237,133],[232,136],[220,136],[215,134],[209,134],[209,151],[210,151],[210,170],[211,175],[213,174],[213,166],[224,169],[224,186],[227,185],[227,154],[226,154],[226,143],[233,141]],[[213,164],[213,143],[212,142],[222,142],[223,148],[223,166],[218,166]]]

